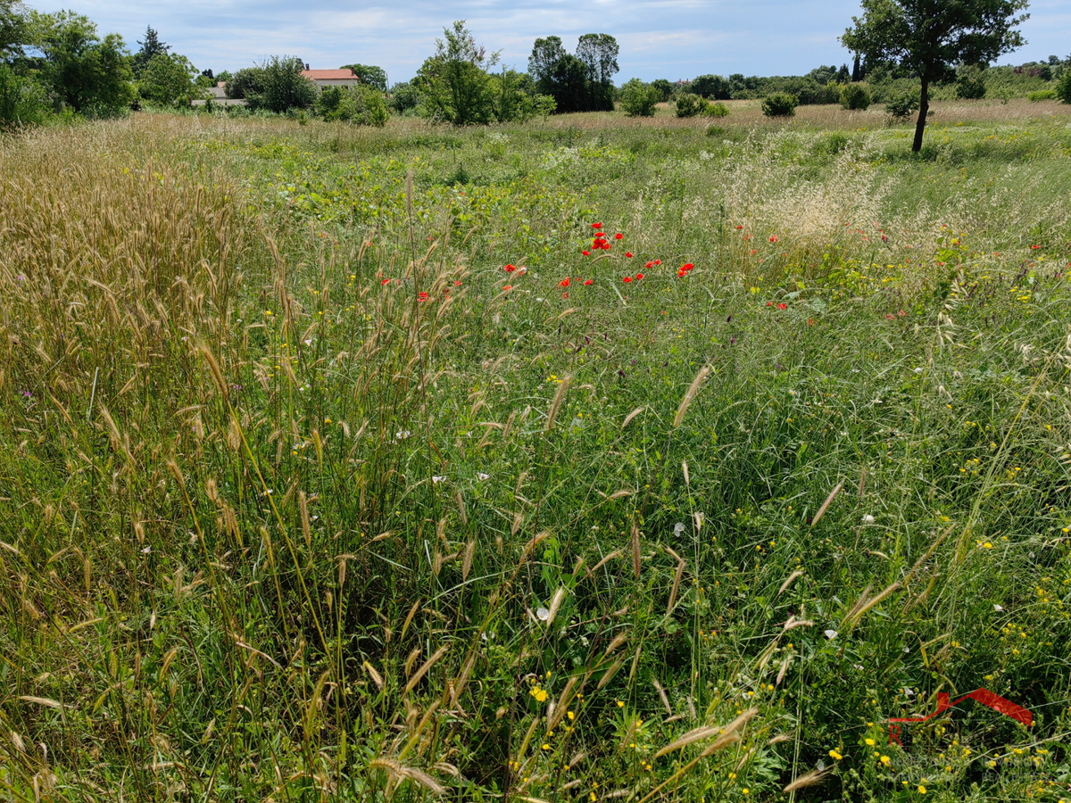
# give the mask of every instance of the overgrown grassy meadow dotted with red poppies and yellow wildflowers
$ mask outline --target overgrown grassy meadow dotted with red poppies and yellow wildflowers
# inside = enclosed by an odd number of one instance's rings
[[[1071,800],[1071,113],[728,105],[0,139],[0,800]]]

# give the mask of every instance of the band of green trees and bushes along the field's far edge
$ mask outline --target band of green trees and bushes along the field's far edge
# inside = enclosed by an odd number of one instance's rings
[[[885,94],[893,117],[918,112],[912,147],[919,150],[934,91],[954,85],[960,97],[984,96],[989,64],[1024,44],[1016,26],[1027,18],[1027,0],[861,4],[862,16],[854,17],[841,36],[854,55],[851,69],[823,65],[802,76],[709,74],[676,84],[633,78],[617,87],[619,47],[610,34],[584,34],[572,54],[559,36],[537,39],[528,71],[518,72],[501,65],[500,51],[479,45],[458,20],[443,29],[435,52],[411,80],[388,87],[381,67],[355,63],[345,66],[358,86],[320,90],[292,56],[214,76],[211,70],[198,73],[151,27],[138,42],[140,49],[131,54],[121,36],[100,35],[82,15],[42,14],[19,0],[0,0],[0,125],[41,122],[48,115],[108,117],[141,103],[188,107],[208,99],[215,81],[224,81],[227,95],[244,100],[253,111],[307,112],[372,125],[386,123],[392,110],[456,125],[616,107],[650,116],[667,101],[679,117],[722,115],[728,111],[719,102],[739,99],[763,99],[764,111],[776,116],[791,115],[799,104],[866,108]],[[1071,57],[1051,57],[1002,79],[1053,81],[1052,88],[1038,87],[1037,99],[1071,103],[1068,67]]]

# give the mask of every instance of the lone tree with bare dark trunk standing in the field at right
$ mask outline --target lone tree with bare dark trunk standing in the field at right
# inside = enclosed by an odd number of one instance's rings
[[[955,76],[953,65],[989,64],[1025,44],[1014,27],[1027,0],[862,0],[841,43],[868,61],[899,64],[920,82],[919,117],[911,150],[922,150],[930,87]]]

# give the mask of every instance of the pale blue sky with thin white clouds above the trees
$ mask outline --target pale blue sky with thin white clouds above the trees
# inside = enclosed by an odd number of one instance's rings
[[[120,33],[132,51],[152,26],[199,70],[235,71],[270,56],[298,56],[314,69],[375,64],[391,84],[408,80],[455,19],[502,63],[528,69],[537,37],[557,35],[573,51],[584,33],[620,45],[618,84],[712,73],[802,75],[840,65],[836,37],[860,13],[858,0],[67,0],[101,33]],[[37,11],[58,11],[30,0]],[[1021,30],[1027,45],[998,63],[1071,52],[1071,3],[1035,0]]]

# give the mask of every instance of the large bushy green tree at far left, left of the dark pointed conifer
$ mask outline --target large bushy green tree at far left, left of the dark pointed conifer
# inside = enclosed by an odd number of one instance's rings
[[[44,54],[41,77],[57,105],[96,117],[118,115],[134,100],[130,57],[123,37],[100,39],[96,25],[69,11],[32,14]]]

